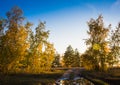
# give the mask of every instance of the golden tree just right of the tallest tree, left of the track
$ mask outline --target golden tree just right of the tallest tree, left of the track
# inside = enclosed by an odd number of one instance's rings
[[[45,30],[44,22],[40,22],[35,30],[35,34],[29,31],[28,60],[32,67],[31,70],[39,72],[51,67],[54,58],[54,46],[47,40],[49,31]]]

